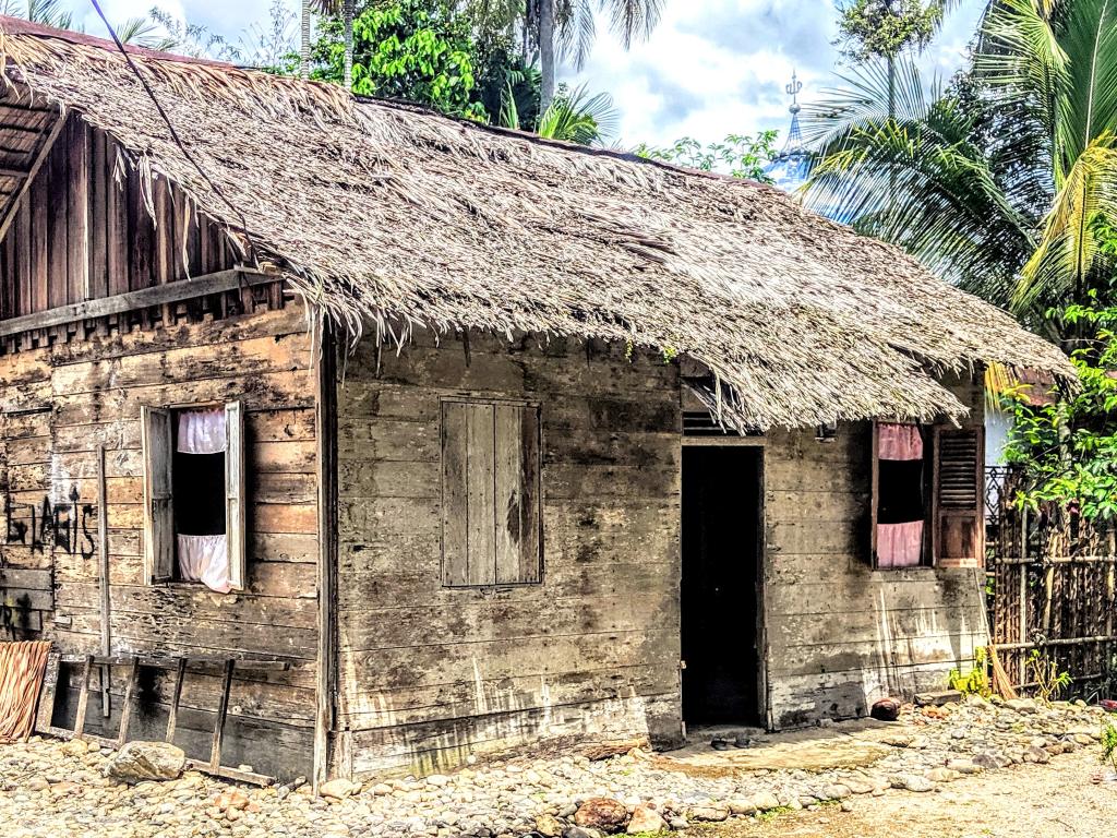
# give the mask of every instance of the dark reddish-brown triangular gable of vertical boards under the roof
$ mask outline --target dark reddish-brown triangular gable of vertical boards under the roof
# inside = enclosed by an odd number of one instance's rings
[[[220,227],[200,223],[163,179],[151,188],[156,226],[141,179],[118,154],[104,132],[69,116],[0,245],[0,317],[233,266]]]

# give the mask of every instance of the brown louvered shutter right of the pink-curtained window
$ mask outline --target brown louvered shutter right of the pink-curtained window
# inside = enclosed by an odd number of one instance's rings
[[[935,429],[934,552],[946,568],[978,568],[985,556],[983,428]]]

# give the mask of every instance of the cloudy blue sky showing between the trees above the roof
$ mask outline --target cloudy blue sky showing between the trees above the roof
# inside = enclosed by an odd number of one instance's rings
[[[208,27],[237,41],[268,18],[273,0],[155,0],[179,19]],[[295,7],[295,0],[286,0]],[[580,72],[564,67],[560,80],[608,91],[619,111],[617,143],[669,145],[682,136],[708,143],[727,134],[789,124],[784,86],[792,70],[803,83],[801,98],[837,83],[840,57],[833,0],[665,0],[658,28],[628,51],[598,26],[598,40]],[[88,0],[65,0],[84,19],[86,31],[104,26]],[[102,0],[109,20],[143,16],[153,0]],[[922,57],[928,70],[948,76],[964,58],[982,0],[963,0]]]

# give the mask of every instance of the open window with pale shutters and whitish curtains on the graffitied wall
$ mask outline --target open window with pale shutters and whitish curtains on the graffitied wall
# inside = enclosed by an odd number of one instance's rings
[[[240,402],[185,411],[144,406],[140,421],[149,584],[191,581],[220,591],[244,590],[245,421]],[[188,440],[185,430],[206,435]]]

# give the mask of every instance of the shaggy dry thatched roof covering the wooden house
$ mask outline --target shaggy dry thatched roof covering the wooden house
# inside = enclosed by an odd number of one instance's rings
[[[1071,374],[1004,313],[775,189],[136,50],[219,194],[112,45],[0,30],[18,89],[107,131],[353,332],[669,349],[725,385],[729,420],[762,428],[957,416],[935,375],[994,361]]]

